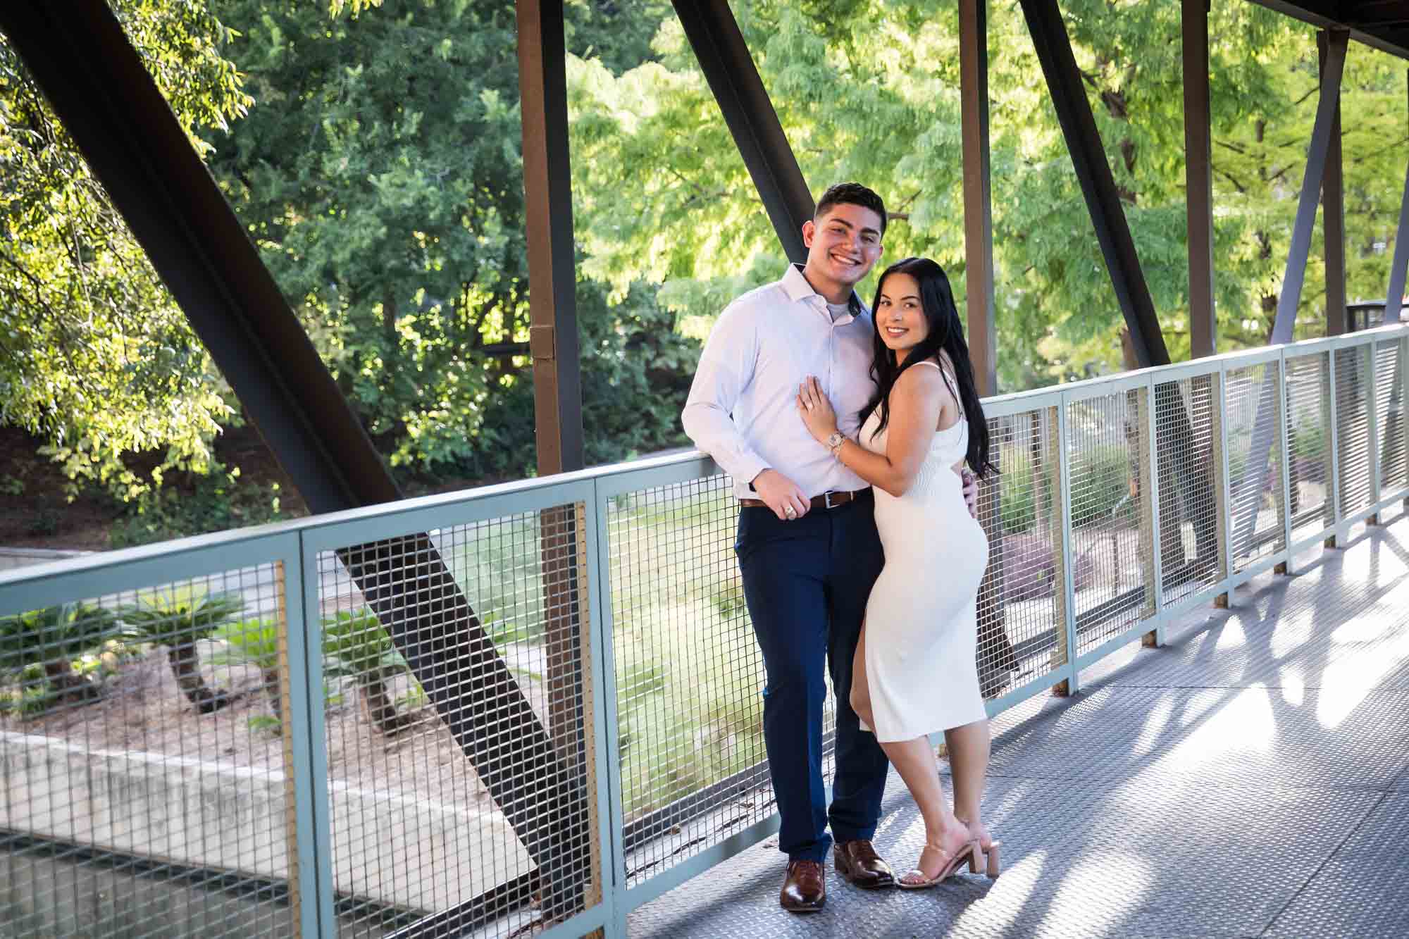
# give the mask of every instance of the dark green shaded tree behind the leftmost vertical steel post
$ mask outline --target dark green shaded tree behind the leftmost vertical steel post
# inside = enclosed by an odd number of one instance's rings
[[[255,106],[210,137],[211,171],[369,433],[403,471],[530,471],[513,4],[400,0],[333,21],[287,0],[217,7]],[[664,10],[572,4],[573,48],[633,61]],[[585,409],[604,417],[593,457],[679,440],[692,357],[672,316],[650,293],[579,295]]]

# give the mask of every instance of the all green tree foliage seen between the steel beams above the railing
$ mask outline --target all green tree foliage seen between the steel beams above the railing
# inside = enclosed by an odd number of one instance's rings
[[[888,258],[964,289],[954,0],[731,4],[814,189],[886,197]],[[534,464],[510,0],[114,0],[172,107],[400,474]],[[1167,341],[1188,355],[1179,6],[1064,0]],[[1222,347],[1267,340],[1316,107],[1309,27],[1212,16]],[[664,0],[572,0],[568,79],[589,461],[682,441],[697,341],[783,258]],[[1026,24],[991,4],[1003,389],[1120,368],[1122,317]],[[1343,83],[1351,296],[1382,296],[1403,176],[1403,65]],[[0,41],[0,420],[124,496],[123,462],[210,464],[238,409]],[[1319,248],[1319,245],[1317,245]],[[1298,333],[1324,297],[1313,252]],[[861,286],[868,295],[872,282]],[[962,297],[961,297],[962,299]]]

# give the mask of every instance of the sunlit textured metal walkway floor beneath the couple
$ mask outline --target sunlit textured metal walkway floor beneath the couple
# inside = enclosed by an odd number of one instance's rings
[[[1409,935],[1409,522],[1264,575],[993,720],[998,881],[778,908],[776,839],[630,918],[637,936]],[[948,780],[945,780],[948,790]],[[876,845],[923,823],[892,773]]]

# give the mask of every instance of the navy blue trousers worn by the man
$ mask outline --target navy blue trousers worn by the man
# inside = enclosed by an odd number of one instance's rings
[[[734,550],[768,670],[764,744],[782,815],[778,847],[790,859],[824,860],[833,836],[869,839],[881,818],[889,764],[851,709],[851,663],[883,563],[874,506],[867,495],[793,522],[759,506],[738,515]],[[821,781],[824,667],[837,695],[830,808]]]

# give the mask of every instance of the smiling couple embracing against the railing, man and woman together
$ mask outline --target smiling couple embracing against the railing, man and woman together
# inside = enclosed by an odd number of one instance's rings
[[[999,871],[979,811],[989,733],[974,658],[988,540],[964,472],[992,470],[988,423],[940,265],[907,258],[881,275],[871,310],[855,297],[885,228],[875,192],[827,189],[802,227],[807,262],[723,312],[683,412],[740,502],[792,912],[826,902],[833,839],[837,871],[858,887],[930,887],[964,863]],[[837,695],[830,805],[824,665]],[[889,764],[924,819],[924,849],[899,878],[871,843]]]

